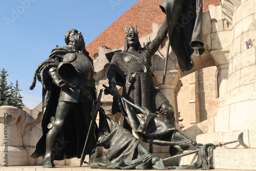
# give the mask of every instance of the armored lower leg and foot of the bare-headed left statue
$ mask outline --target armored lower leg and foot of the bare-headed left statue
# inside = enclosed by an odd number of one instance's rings
[[[54,120],[54,121],[52,121]],[[55,146],[57,143],[57,137],[62,130],[64,119],[53,119],[49,123],[48,128],[50,129],[46,137],[46,154],[42,167],[55,167],[53,160],[56,155]]]

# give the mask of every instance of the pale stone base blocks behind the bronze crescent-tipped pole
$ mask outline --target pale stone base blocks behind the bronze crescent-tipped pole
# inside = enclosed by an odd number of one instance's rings
[[[243,141],[249,148],[244,148],[239,142],[226,144],[214,149],[211,158],[211,167],[218,169],[245,169],[256,170],[256,130],[237,130],[229,132],[216,132],[201,134],[197,136],[197,142],[206,144],[219,144],[220,142],[230,142],[238,140],[239,134],[243,132]],[[231,148],[231,149],[228,149]],[[197,161],[197,154],[188,155],[180,159],[180,165],[192,165]]]

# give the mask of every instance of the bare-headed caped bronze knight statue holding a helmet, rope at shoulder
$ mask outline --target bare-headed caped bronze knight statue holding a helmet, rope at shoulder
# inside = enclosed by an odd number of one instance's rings
[[[81,157],[96,98],[93,63],[81,32],[69,30],[65,42],[67,46],[53,49],[37,67],[30,88],[35,87],[36,77],[43,86],[42,136],[31,155],[44,156],[43,167],[55,167],[53,160]],[[91,154],[95,141],[94,133],[87,154]]]

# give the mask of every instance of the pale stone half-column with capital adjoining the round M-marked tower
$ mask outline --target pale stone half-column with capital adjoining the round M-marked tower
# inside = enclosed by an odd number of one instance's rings
[[[217,88],[218,88],[218,97],[220,99],[220,105],[226,101],[227,97],[227,80],[228,80],[228,56],[229,50],[217,50],[210,51],[212,59],[214,59],[216,67],[218,69],[217,75]]]

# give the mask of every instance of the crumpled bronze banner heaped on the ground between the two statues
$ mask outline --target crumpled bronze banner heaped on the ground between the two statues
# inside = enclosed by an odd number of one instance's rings
[[[153,158],[130,131],[113,122],[113,131],[99,137],[88,165],[103,169],[147,169],[153,167]]]

